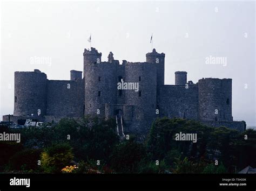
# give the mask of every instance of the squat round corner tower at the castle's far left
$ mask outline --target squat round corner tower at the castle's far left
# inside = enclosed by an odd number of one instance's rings
[[[44,116],[47,76],[40,70],[15,72],[14,116]]]

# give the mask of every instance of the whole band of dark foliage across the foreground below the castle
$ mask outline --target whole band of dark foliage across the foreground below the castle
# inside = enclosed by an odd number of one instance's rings
[[[121,140],[113,119],[63,118],[52,127],[12,129],[21,143],[0,142],[0,171],[22,173],[236,173],[256,167],[256,131],[158,118],[144,142]],[[177,141],[196,133],[197,142]],[[246,137],[246,138],[245,138]]]

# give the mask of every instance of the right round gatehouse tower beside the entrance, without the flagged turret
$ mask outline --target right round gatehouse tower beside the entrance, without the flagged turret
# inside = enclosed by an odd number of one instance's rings
[[[134,105],[134,126],[130,131],[143,133],[156,118],[157,108],[157,65],[147,62],[127,62],[125,80],[138,84],[138,89],[125,91],[125,104]],[[148,123],[147,125],[145,125]]]

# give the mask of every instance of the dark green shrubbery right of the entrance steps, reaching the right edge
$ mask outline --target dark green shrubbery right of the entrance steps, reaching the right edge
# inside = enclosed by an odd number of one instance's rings
[[[197,133],[197,143],[176,141],[174,138],[179,132]],[[245,140],[244,135],[250,139]],[[152,124],[146,145],[151,160],[165,159],[166,163],[171,165],[175,163],[175,158],[178,156],[179,163],[176,162],[173,166],[173,168],[176,166],[177,169],[174,172],[177,173],[185,173],[182,166],[179,166],[181,164],[190,166],[191,169],[187,168],[190,173],[203,172],[201,168],[198,168],[200,170],[192,169],[193,166],[200,165],[202,158],[208,161],[207,164],[218,159],[219,163],[222,162],[225,166],[226,172],[234,173],[234,166],[237,166],[237,169],[247,165],[256,166],[255,143],[256,131],[254,130],[239,133],[225,127],[208,127],[197,121],[161,118]],[[173,153],[174,155],[171,154],[173,155],[171,156],[170,152],[174,150],[176,154]]]

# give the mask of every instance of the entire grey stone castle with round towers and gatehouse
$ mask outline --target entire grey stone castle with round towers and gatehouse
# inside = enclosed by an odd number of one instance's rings
[[[15,72],[14,115],[18,119],[58,121],[62,117],[98,115],[114,118],[119,135],[145,135],[157,117],[195,119],[209,126],[244,131],[245,122],[232,117],[232,79],[203,78],[187,82],[175,72],[175,85],[165,85],[165,54],[146,54],[146,62],[102,61],[97,49],[84,49],[84,69],[71,70],[70,80],[48,80],[45,73]],[[83,75],[82,75],[83,74]],[[118,82],[134,82],[139,90],[118,89]]]

